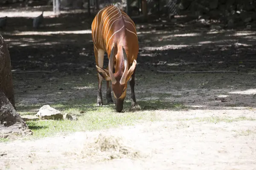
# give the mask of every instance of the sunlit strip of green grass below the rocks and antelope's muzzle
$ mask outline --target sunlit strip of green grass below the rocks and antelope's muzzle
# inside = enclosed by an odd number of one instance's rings
[[[33,131],[34,137],[53,136],[58,133],[67,134],[76,131],[101,130],[119,125],[134,125],[140,120],[154,121],[154,114],[143,112],[128,113],[86,113],[77,121],[70,120],[38,120],[26,122]]]

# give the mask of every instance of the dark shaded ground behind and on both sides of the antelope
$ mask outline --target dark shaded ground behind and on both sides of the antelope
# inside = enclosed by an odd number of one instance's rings
[[[52,17],[48,11],[44,26],[33,30],[33,16],[22,14],[10,17],[6,30],[1,32],[9,46],[13,70],[58,71],[14,73],[16,101],[21,102],[18,110],[34,113],[40,106],[51,104],[68,112],[75,109],[76,114],[101,111],[104,107],[96,107],[97,79],[90,34],[94,15],[88,17],[80,10]],[[180,17],[171,25],[137,22],[137,33],[140,52],[136,93],[142,111],[205,108],[195,107],[198,105],[212,109],[254,106],[254,92],[229,93],[255,86],[255,32],[240,28],[216,31],[189,24],[186,17]],[[105,55],[104,65],[107,63]],[[160,74],[154,72],[156,69],[239,73]],[[226,96],[218,97],[222,94]],[[125,111],[130,107],[129,95],[128,92]],[[105,107],[114,111],[113,105]]]

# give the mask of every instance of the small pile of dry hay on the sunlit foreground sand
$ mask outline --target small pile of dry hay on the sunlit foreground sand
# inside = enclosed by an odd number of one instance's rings
[[[83,158],[93,159],[94,161],[104,161],[120,158],[139,158],[140,153],[133,147],[115,136],[106,136],[102,133],[94,142],[86,144],[82,150]]]

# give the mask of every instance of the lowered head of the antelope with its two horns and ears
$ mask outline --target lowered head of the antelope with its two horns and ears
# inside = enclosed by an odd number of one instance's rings
[[[123,103],[126,96],[127,82],[134,73],[137,61],[134,59],[131,67],[129,68],[128,58],[125,49],[122,47],[122,57],[124,63],[124,71],[116,70],[113,74],[113,61],[114,61],[114,47],[111,50],[111,54],[108,62],[108,70],[100,68],[96,65],[98,73],[107,81],[112,82],[112,89],[114,97],[116,98],[116,111],[121,112],[123,109]],[[122,67],[120,67],[121,69]]]

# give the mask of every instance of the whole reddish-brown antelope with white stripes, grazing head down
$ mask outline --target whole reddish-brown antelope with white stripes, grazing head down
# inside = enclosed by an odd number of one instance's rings
[[[126,96],[127,82],[131,86],[131,106],[136,105],[134,94],[135,67],[139,51],[136,27],[124,11],[108,5],[98,12],[92,23],[92,39],[98,71],[97,105],[102,103],[102,79],[107,81],[107,102],[113,102],[111,84],[116,98],[116,111],[121,112]],[[103,68],[104,54],[108,54],[108,67]],[[115,73],[113,73],[113,67]],[[102,78],[103,77],[103,78]]]

